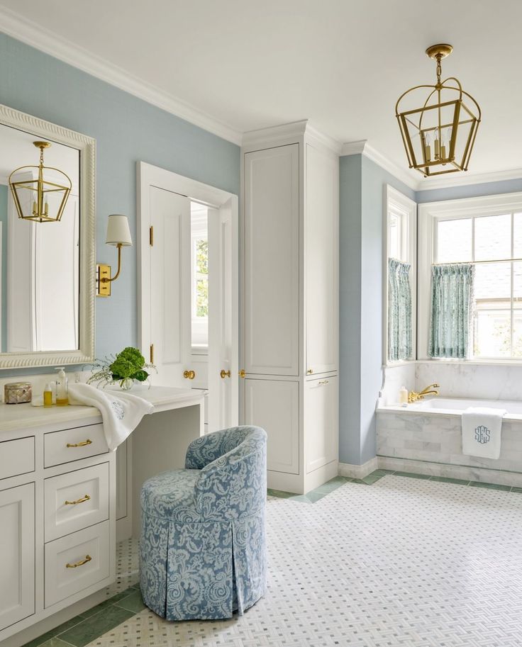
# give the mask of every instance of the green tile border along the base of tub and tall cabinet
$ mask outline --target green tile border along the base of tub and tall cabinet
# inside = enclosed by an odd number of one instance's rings
[[[283,490],[267,490],[267,495],[279,499],[291,499],[304,503],[315,503],[340,488],[345,483],[358,483],[359,485],[373,485],[381,480],[384,476],[405,476],[407,478],[418,478],[419,480],[434,480],[438,483],[452,483],[453,485],[469,485],[473,488],[484,488],[486,490],[503,490],[504,492],[516,492],[522,494],[522,488],[511,487],[511,485],[499,485],[497,483],[482,483],[482,481],[470,481],[462,478],[450,478],[449,476],[428,476],[428,474],[418,474],[413,472],[401,472],[393,470],[375,470],[364,478],[347,478],[345,476],[335,476],[327,483],[319,485],[315,490],[306,494],[293,494]]]

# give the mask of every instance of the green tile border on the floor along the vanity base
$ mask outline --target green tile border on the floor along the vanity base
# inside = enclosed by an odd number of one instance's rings
[[[133,585],[46,631],[23,647],[84,647],[142,609],[145,609],[145,604],[141,600],[139,586]]]

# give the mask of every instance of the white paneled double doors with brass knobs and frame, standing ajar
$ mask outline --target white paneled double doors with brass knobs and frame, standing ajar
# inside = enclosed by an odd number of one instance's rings
[[[201,388],[201,364],[191,346],[191,201],[199,202],[208,216],[209,431],[233,427],[239,400],[238,198],[141,162],[138,186],[140,338],[157,367],[152,379],[162,386]]]

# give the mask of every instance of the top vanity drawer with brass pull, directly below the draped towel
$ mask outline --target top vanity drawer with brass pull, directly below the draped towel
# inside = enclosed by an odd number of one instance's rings
[[[88,424],[86,427],[45,434],[43,448],[44,467],[79,461],[80,458],[106,454],[109,451],[103,424]]]

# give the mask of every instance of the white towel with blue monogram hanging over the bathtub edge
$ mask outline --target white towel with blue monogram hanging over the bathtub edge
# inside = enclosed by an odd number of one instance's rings
[[[462,412],[462,454],[499,458],[505,409],[469,407]]]

